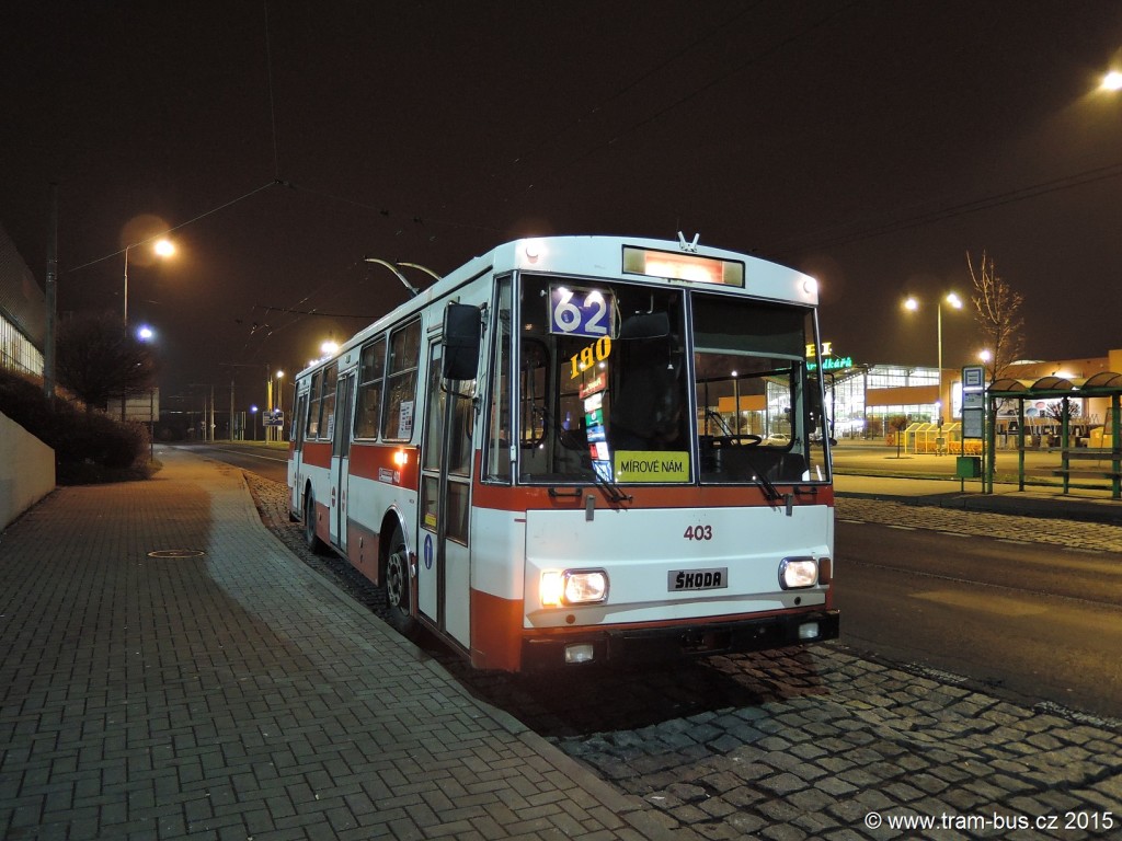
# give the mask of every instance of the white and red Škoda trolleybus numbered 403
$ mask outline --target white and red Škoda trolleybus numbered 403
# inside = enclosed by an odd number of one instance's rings
[[[681,235],[499,246],[297,376],[293,515],[481,668],[835,638],[816,308]]]

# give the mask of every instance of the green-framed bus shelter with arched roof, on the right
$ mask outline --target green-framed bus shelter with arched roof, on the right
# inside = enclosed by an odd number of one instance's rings
[[[1018,481],[1024,490],[1024,431],[1026,403],[1059,400],[1059,452],[1060,466],[1054,474],[1064,482],[1064,492],[1070,490],[1072,480],[1109,480],[1111,497],[1122,499],[1122,428],[1120,428],[1120,400],[1122,400],[1122,373],[1100,371],[1091,377],[1041,377],[1038,380],[1003,378],[990,386],[990,417],[997,417],[1001,401],[1017,401],[1017,451]],[[1089,446],[1077,447],[1072,437],[1072,400],[1100,398],[1110,400],[1105,424],[1097,435],[1089,438]],[[1080,424],[1083,422],[1080,420]],[[994,437],[996,424],[990,424],[990,463],[987,473],[993,483]]]

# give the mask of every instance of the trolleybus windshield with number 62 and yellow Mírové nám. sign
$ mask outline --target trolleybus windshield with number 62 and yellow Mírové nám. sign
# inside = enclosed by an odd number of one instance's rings
[[[521,482],[758,483],[771,493],[828,480],[804,357],[817,343],[810,308],[604,279],[518,283],[517,321],[506,323],[521,329],[504,343],[517,353],[516,429],[490,445],[517,441]]]

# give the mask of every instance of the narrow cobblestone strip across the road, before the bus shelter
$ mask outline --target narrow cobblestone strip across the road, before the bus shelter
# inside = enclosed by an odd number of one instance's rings
[[[980,535],[1014,543],[1057,544],[1092,552],[1122,552],[1122,527],[1098,523],[964,511],[847,497],[836,500],[835,512],[842,520]]]

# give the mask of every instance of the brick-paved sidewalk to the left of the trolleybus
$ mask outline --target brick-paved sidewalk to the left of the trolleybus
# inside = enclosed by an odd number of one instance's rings
[[[159,458],[0,535],[0,838],[663,834]]]

